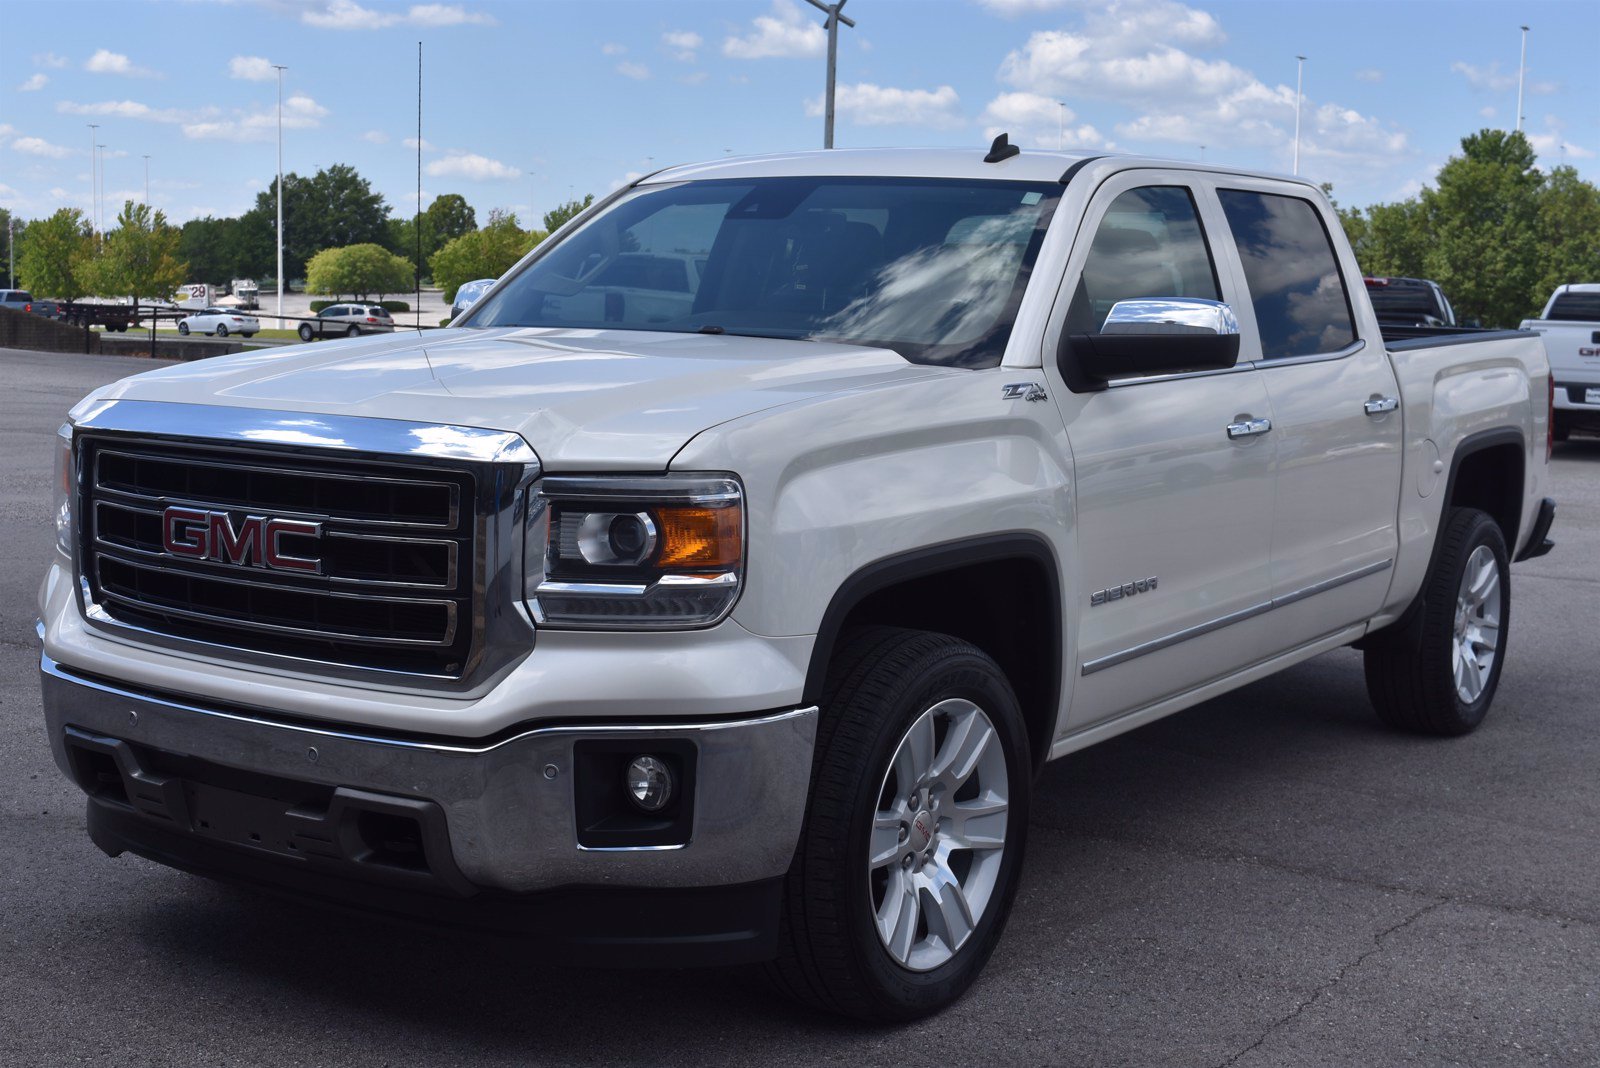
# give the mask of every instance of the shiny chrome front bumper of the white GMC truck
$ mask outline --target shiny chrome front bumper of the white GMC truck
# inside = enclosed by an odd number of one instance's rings
[[[40,675],[51,751],[80,785],[69,743],[88,737],[102,747],[122,742],[123,748],[334,787],[341,795],[430,803],[443,814],[453,867],[466,883],[518,894],[563,886],[712,887],[782,875],[800,835],[818,718],[810,707],[738,721],[597,723],[531,727],[482,743],[435,742],[206,708],[75,675],[48,656],[40,659]],[[686,844],[578,844],[573,745],[587,739],[637,740],[642,750],[659,740],[694,747]],[[141,814],[138,798],[126,814],[162,823],[163,831],[194,830],[181,817]]]

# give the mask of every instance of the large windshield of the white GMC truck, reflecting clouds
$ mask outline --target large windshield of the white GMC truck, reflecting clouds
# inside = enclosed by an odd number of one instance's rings
[[[762,177],[635,189],[467,317],[798,337],[994,366],[1054,182]]]

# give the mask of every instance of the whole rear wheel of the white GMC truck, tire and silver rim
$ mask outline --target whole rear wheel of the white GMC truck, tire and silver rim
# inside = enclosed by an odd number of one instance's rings
[[[1368,646],[1366,692],[1392,727],[1469,734],[1494,700],[1510,630],[1510,558],[1488,513],[1446,512],[1419,611],[1414,641]]]

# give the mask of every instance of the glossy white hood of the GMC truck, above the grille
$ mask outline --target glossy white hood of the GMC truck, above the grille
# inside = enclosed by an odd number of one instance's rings
[[[640,470],[666,468],[690,438],[730,419],[949,373],[830,342],[462,328],[216,357],[99,397],[510,430],[546,470]]]

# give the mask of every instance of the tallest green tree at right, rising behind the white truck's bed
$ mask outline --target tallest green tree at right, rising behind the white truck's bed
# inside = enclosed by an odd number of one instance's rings
[[[1480,130],[1422,190],[1422,277],[1450,294],[1456,315],[1514,326],[1536,299],[1544,176],[1522,133]]]

